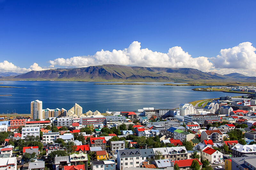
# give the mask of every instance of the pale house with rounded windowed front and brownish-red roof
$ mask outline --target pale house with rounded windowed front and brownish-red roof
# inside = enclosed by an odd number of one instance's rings
[[[201,142],[211,139],[213,143],[223,142],[223,134],[220,130],[205,130],[201,133]]]

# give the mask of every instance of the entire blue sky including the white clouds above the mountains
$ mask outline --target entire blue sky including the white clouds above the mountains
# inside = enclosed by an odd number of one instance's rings
[[[250,63],[236,65],[244,60],[256,62],[255,5],[256,1],[233,0],[0,0],[0,72],[109,63],[162,67],[167,62],[168,67],[255,75],[256,68]],[[250,43],[239,46],[244,42]],[[129,46],[149,51],[131,54]],[[176,46],[180,48],[168,51]],[[228,48],[220,55],[221,49]],[[95,55],[101,49],[104,51]],[[113,49],[122,52],[113,54]],[[205,58],[198,58],[201,56]],[[190,62],[179,63],[186,59]]]

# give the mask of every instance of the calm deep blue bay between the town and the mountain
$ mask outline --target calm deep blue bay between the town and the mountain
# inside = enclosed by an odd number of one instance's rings
[[[0,81],[0,113],[30,114],[30,102],[43,101],[43,109],[69,110],[79,104],[83,113],[92,110],[137,111],[143,107],[175,108],[194,100],[239,96],[237,93],[196,92],[194,86],[164,86],[173,82],[148,82],[154,85],[94,85],[95,82]],[[97,82],[98,83],[98,82]],[[102,82],[114,83],[114,82]],[[116,82],[122,83],[122,82]],[[139,82],[138,82],[139,83]],[[143,82],[145,83],[145,82]],[[178,83],[177,83],[178,84]],[[197,86],[200,88],[200,86]],[[201,86],[204,87],[204,86]]]

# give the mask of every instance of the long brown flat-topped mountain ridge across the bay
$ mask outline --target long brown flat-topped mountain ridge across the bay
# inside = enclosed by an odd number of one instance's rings
[[[214,72],[205,73],[191,68],[129,67],[114,64],[75,69],[30,71],[9,78],[11,80],[59,81],[236,81],[236,78]]]

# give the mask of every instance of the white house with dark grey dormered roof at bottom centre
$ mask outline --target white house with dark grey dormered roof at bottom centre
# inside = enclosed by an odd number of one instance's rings
[[[126,149],[117,152],[117,168],[124,170],[125,167],[140,167],[142,162],[139,149]]]

